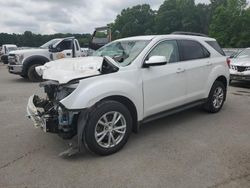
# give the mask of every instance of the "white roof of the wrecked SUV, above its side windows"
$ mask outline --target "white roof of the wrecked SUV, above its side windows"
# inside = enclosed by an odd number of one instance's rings
[[[126,40],[153,40],[153,39],[195,39],[195,40],[203,40],[203,41],[215,41],[214,38],[204,37],[204,36],[194,36],[194,35],[144,35],[144,36],[134,36],[118,39],[118,41],[126,41]]]

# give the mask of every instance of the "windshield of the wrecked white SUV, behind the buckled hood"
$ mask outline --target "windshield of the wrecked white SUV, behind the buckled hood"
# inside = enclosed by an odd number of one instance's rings
[[[116,41],[96,50],[92,55],[109,56],[121,66],[127,66],[141,53],[149,42],[149,40]]]

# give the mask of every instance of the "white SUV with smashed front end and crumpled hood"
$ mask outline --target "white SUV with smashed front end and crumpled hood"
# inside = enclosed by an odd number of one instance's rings
[[[142,123],[196,105],[220,111],[229,81],[216,40],[183,34],[124,38],[36,70],[46,97],[29,98],[28,117],[99,155],[120,150]]]

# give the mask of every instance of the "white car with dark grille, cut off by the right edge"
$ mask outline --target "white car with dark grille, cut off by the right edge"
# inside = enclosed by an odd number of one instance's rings
[[[230,62],[230,81],[250,81],[250,48],[246,48]]]

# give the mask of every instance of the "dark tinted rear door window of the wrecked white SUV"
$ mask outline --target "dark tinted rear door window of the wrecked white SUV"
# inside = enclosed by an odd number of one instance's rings
[[[199,42],[192,40],[180,40],[178,41],[181,60],[187,61],[192,59],[202,59],[210,56],[205,47],[203,47]]]

